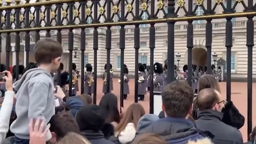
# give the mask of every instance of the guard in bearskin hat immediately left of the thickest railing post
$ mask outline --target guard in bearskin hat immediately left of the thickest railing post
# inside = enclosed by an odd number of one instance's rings
[[[164,69],[162,67],[162,64],[155,63],[154,64],[154,77],[153,77],[153,83],[154,83],[154,92],[162,92],[163,84],[164,84],[164,77],[163,77]]]

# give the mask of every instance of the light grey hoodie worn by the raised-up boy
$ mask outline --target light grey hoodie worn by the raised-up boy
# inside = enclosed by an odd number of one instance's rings
[[[10,126],[10,130],[17,138],[29,139],[28,125],[31,118],[45,119],[46,127],[55,114],[52,76],[42,68],[32,68],[14,83],[13,88],[17,91],[17,119]],[[46,139],[50,138],[48,131]]]

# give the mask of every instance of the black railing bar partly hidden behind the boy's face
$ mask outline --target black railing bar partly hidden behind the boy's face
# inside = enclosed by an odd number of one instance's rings
[[[62,26],[63,24],[61,23],[61,7],[62,7],[62,3],[59,3],[59,4],[56,4],[56,8],[57,8],[57,26]],[[57,31],[57,41],[61,44],[62,43],[62,34],[61,34],[61,29],[59,29]],[[57,77],[57,85],[60,85],[61,84],[61,79],[60,79],[60,69],[58,69],[57,71],[58,73],[58,77]]]

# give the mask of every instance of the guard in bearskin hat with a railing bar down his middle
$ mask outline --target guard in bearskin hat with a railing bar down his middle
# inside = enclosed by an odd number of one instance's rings
[[[109,77],[109,80],[110,80],[110,88],[109,88],[109,92],[111,92],[111,90],[113,90],[113,70],[112,70],[112,65],[110,64],[110,77]],[[101,78],[103,79],[103,87],[102,87],[102,92],[104,94],[107,94],[107,64],[105,64],[104,66],[104,70],[105,72],[102,74]]]

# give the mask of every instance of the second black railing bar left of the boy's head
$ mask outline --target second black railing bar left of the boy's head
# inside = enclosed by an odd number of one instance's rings
[[[16,3],[16,5],[19,5],[19,2]],[[16,8],[16,29],[21,28],[20,21],[23,21],[23,19],[20,19],[20,11],[21,8]],[[21,50],[21,36],[19,32],[16,32],[15,36],[15,52],[16,52],[16,81],[19,79],[19,51]]]

